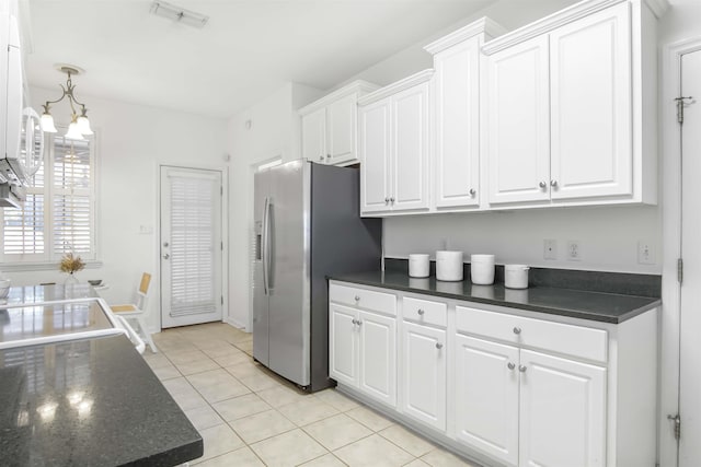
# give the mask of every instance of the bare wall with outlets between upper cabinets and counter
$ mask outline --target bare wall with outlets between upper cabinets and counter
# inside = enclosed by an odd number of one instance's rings
[[[497,264],[545,268],[659,273],[660,210],[657,207],[530,209],[506,212],[436,214],[384,220],[384,253],[405,258],[449,249],[495,254]],[[543,241],[558,242],[558,259],[543,259]],[[567,241],[577,241],[582,259],[567,260]],[[637,242],[653,246],[654,265],[637,264]]]

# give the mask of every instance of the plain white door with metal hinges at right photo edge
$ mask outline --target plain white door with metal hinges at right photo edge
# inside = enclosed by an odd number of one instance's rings
[[[679,466],[701,465],[701,50],[681,57],[681,91],[687,101],[681,127],[681,317],[679,335]]]

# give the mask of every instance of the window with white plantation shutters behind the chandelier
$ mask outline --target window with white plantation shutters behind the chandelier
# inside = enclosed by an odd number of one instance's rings
[[[24,206],[0,211],[2,262],[55,262],[67,253],[94,260],[94,138],[54,133],[45,148]]]

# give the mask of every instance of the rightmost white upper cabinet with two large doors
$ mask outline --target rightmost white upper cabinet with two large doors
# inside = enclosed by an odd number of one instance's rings
[[[482,47],[490,206],[656,203],[654,14],[579,2]]]

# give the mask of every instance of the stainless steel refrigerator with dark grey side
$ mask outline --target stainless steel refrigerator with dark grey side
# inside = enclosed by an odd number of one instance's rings
[[[292,161],[254,176],[253,358],[306,390],[329,380],[326,276],[380,267],[357,168]]]

